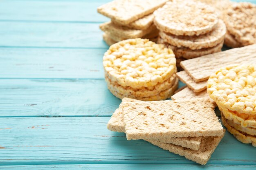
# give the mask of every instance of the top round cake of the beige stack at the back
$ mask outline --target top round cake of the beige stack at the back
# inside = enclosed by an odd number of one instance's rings
[[[174,0],[154,12],[157,28],[173,35],[200,35],[213,30],[218,14],[213,7],[194,1]]]

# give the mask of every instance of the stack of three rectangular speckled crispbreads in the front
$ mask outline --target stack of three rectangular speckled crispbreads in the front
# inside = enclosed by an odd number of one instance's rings
[[[142,102],[124,98],[107,128],[206,164],[224,130],[207,99]]]

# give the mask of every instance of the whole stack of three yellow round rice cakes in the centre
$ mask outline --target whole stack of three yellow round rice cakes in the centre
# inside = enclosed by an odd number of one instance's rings
[[[103,57],[110,92],[123,99],[164,100],[178,86],[171,49],[148,39],[129,39],[110,46]]]

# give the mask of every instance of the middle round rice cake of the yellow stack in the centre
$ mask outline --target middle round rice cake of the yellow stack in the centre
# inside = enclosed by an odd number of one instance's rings
[[[170,79],[162,83],[158,83],[153,87],[142,87],[140,89],[131,88],[131,87],[123,87],[115,82],[111,82],[111,80],[105,75],[106,82],[109,87],[115,89],[115,91],[124,96],[132,95],[134,97],[149,97],[158,95],[161,91],[165,91],[168,88],[171,88],[176,80],[176,74],[173,74]]]

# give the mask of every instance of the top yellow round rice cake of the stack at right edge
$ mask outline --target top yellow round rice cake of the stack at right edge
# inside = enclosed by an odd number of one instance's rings
[[[245,51],[246,53],[246,51]],[[213,73],[207,93],[221,108],[238,114],[256,114],[256,65],[231,65]]]

